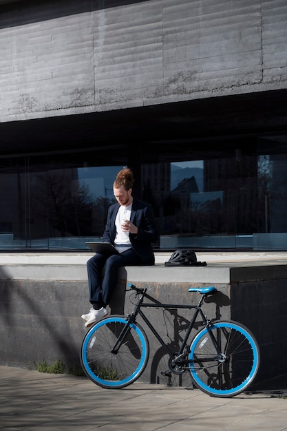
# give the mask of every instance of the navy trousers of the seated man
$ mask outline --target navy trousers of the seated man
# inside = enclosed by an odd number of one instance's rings
[[[140,265],[142,262],[133,249],[120,255],[105,256],[96,253],[87,261],[87,279],[89,283],[89,302],[98,306],[107,306],[118,281],[120,266]]]

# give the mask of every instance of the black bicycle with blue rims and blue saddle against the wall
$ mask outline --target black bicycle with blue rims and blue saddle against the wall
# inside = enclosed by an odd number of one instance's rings
[[[149,341],[145,330],[136,322],[138,315],[169,356],[169,369],[162,375],[189,370],[195,386],[213,397],[238,395],[255,379],[259,348],[251,331],[232,320],[209,319],[202,311],[206,297],[217,292],[214,286],[188,289],[201,294],[198,305],[161,304],[147,294],[147,288],[137,288],[133,284],[128,284],[128,288],[138,298],[134,311],[127,316],[111,315],[100,320],[83,339],[81,365],[87,377],[98,386],[124,388],[144,372],[149,359]],[[147,307],[193,309],[193,317],[176,354],[143,313],[142,308]],[[204,328],[188,344],[198,316]]]

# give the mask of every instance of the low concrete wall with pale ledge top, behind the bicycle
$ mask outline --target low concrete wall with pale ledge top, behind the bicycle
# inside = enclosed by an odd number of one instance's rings
[[[86,329],[81,314],[89,310],[85,262],[89,253],[69,255],[3,256],[0,269],[0,364],[31,368],[45,359],[52,364],[61,359],[67,366],[79,366],[79,353]],[[256,253],[253,255],[253,257]],[[286,372],[287,353],[287,265],[286,256],[278,263],[266,257],[261,262],[247,257],[245,262],[206,257],[208,265],[194,268],[156,266],[127,267],[119,273],[111,313],[132,311],[126,281],[147,286],[160,302],[194,304],[196,294],[189,286],[214,285],[217,295],[204,306],[209,317],[235,319],[253,330],[262,355],[259,379]],[[17,259],[19,264],[17,264]],[[218,256],[217,256],[218,259]],[[238,259],[238,257],[237,257]],[[168,344],[180,339],[189,311],[147,311]],[[140,322],[140,321],[139,321]],[[145,328],[145,324],[142,324]],[[150,358],[142,379],[152,383],[189,386],[189,373],[162,377],[167,357],[149,333]],[[176,350],[176,346],[175,346]]]

